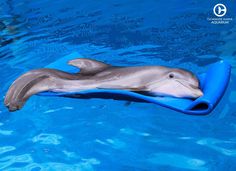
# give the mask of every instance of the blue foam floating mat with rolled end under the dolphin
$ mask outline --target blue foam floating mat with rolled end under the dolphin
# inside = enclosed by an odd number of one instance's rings
[[[45,68],[59,69],[69,73],[79,72],[79,69],[67,64],[69,60],[82,57],[78,53],[65,56]],[[78,98],[112,98],[117,100],[142,101],[158,104],[179,112],[192,115],[209,114],[223,96],[229,83],[231,67],[227,62],[220,61],[211,64],[206,73],[198,75],[201,90],[204,95],[195,100],[173,97],[153,97],[127,90],[92,89],[74,93],[43,92],[41,96],[68,96]]]

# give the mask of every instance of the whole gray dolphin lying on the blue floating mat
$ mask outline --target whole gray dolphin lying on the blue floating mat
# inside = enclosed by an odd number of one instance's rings
[[[74,59],[68,64],[80,68],[80,72],[71,74],[44,68],[21,75],[9,88],[5,106],[9,111],[19,110],[32,95],[45,91],[122,89],[148,92],[153,96],[192,99],[203,95],[197,77],[184,69],[164,66],[117,67],[86,58]]]

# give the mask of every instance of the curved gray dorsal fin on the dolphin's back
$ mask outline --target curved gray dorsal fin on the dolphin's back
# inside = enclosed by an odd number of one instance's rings
[[[84,74],[84,75],[96,74],[111,66],[103,62],[87,59],[87,58],[73,59],[73,60],[68,61],[68,64],[78,67],[80,69],[79,73]]]

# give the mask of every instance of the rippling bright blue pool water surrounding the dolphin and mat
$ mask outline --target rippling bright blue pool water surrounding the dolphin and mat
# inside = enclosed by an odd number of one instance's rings
[[[0,0],[0,170],[236,170],[236,2],[212,24],[213,1]],[[113,65],[196,73],[232,65],[207,116],[154,104],[33,96],[3,105],[22,73],[78,52]]]

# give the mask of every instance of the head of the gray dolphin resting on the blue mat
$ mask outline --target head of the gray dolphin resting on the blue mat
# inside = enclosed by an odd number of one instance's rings
[[[153,92],[162,96],[196,99],[203,95],[197,77],[184,69],[168,69],[160,81],[153,86]]]

